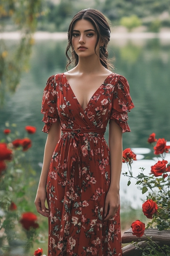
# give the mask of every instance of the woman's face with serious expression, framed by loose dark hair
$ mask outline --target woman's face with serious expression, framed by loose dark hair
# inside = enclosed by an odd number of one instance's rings
[[[79,57],[89,57],[97,53],[99,56],[100,42],[96,47],[95,53],[96,42],[97,32],[95,27],[88,20],[78,20],[72,32],[72,45],[77,55]]]

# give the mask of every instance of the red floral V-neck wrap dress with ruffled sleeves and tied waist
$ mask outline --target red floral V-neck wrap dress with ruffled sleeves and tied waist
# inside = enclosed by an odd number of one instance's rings
[[[58,118],[63,131],[47,181],[49,256],[122,255],[119,210],[103,222],[111,176],[104,132],[109,119],[130,131],[127,113],[133,107],[128,82],[118,74],[108,75],[85,110],[64,73],[48,79],[43,131]]]

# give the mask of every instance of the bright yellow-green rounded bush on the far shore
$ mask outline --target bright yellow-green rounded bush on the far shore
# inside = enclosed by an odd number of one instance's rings
[[[120,20],[120,25],[126,27],[129,31],[133,28],[139,27],[141,24],[141,20],[136,15],[122,17]]]

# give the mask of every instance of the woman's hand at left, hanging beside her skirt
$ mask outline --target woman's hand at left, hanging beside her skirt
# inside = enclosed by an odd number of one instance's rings
[[[45,201],[46,201],[46,189],[38,188],[35,202],[34,202],[37,212],[45,217],[49,217],[49,210],[45,206]]]

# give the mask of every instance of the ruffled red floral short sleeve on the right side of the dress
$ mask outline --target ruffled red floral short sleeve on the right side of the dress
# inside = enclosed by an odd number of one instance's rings
[[[130,93],[129,84],[124,76],[118,76],[113,92],[113,102],[110,120],[114,120],[122,132],[131,131],[127,123],[128,112],[134,108]]]

